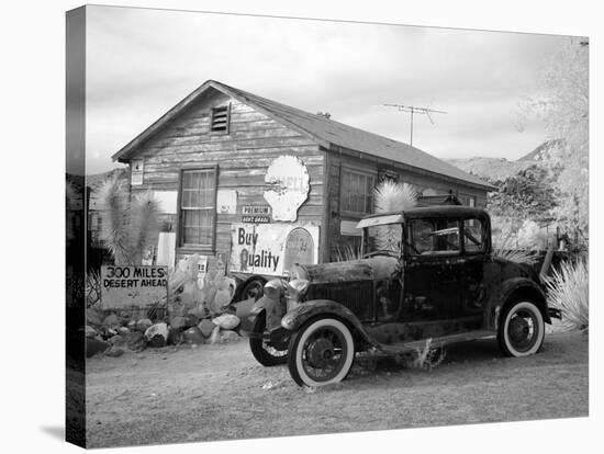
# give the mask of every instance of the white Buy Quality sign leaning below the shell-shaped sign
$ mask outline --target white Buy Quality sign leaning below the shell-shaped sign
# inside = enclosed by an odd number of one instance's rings
[[[314,225],[233,224],[228,270],[286,275],[293,263],[317,263],[318,227]]]

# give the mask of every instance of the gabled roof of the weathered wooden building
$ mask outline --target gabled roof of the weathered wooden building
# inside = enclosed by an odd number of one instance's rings
[[[417,170],[421,173],[436,173],[472,186],[479,186],[480,189],[486,191],[496,189],[483,180],[480,180],[479,178],[407,144],[329,120],[324,115],[312,114],[300,109],[281,104],[279,102],[271,101],[213,80],[206,81],[180,101],[157,122],[118,151],[113,156],[113,159],[122,162],[130,160],[137,145],[150,137],[210,88],[219,90],[245,104],[248,104],[302,134],[311,136],[321,146],[327,149],[360,151],[362,154],[385,159],[394,163],[402,163]]]

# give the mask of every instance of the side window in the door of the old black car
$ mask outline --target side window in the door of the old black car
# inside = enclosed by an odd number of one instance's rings
[[[410,234],[410,249],[414,256],[459,253],[457,219],[415,219],[411,222]]]

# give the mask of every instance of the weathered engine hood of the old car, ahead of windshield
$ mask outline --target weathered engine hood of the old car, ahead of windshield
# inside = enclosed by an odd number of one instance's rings
[[[321,264],[299,265],[311,283],[389,279],[395,271],[398,260],[380,256],[370,259],[350,260]]]

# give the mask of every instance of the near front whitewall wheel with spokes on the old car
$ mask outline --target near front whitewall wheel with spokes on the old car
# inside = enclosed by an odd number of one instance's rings
[[[304,325],[290,339],[288,367],[300,386],[324,386],[342,382],[350,372],[355,342],[346,325],[320,318]]]

